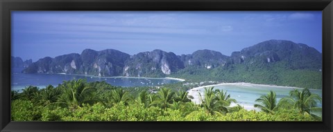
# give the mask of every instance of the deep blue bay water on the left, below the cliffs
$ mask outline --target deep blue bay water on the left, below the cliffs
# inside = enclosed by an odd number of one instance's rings
[[[72,79],[87,79],[87,82],[105,81],[112,86],[158,86],[180,82],[176,79],[144,78],[144,77],[93,77],[85,75],[62,75],[62,74],[24,74],[21,69],[13,69],[11,76],[11,88],[21,91],[26,86],[37,86],[45,88],[49,84],[58,86],[63,81]]]

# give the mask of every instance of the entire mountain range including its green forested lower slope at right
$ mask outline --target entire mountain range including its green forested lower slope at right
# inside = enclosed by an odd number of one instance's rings
[[[12,59],[17,62],[14,57]],[[189,83],[250,82],[319,89],[322,88],[322,62],[322,53],[315,48],[272,39],[234,51],[230,56],[203,49],[189,55],[175,55],[163,50],[128,55],[112,49],[86,49],[80,55],[44,57],[23,72],[178,77]]]

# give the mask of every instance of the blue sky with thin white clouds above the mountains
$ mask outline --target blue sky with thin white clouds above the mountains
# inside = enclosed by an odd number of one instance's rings
[[[12,11],[12,56],[22,59],[115,49],[230,56],[270,39],[322,52],[321,11]]]

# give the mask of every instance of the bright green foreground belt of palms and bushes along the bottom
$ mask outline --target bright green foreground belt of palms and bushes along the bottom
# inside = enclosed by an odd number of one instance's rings
[[[22,93],[12,91],[13,121],[321,121],[314,114],[321,109],[318,95],[307,88],[290,92],[276,102],[275,93],[258,97],[262,111],[233,106],[228,93],[205,88],[201,104],[189,100],[182,88],[121,88],[105,82],[83,79],[56,87],[28,86]]]

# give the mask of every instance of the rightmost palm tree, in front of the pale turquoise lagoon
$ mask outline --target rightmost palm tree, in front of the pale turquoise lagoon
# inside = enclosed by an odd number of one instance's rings
[[[289,92],[289,95],[290,97],[284,97],[281,101],[289,104],[291,108],[298,110],[300,113],[316,117],[316,115],[313,115],[311,112],[321,111],[321,108],[316,106],[316,101],[322,101],[321,97],[312,94],[308,88],[304,88],[302,91],[294,89]]]

